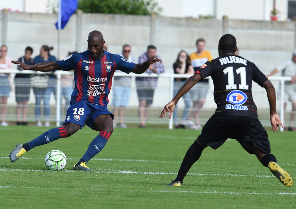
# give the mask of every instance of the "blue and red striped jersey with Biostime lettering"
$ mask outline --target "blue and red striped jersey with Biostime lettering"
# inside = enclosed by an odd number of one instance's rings
[[[115,70],[129,74],[135,66],[135,63],[106,51],[102,58],[92,58],[89,50],[71,54],[64,60],[57,61],[57,64],[63,71],[75,70],[75,88],[71,95],[71,104],[84,100],[104,106],[109,103],[108,94]]]

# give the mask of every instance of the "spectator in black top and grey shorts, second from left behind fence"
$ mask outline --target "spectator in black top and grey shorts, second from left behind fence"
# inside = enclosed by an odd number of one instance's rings
[[[27,65],[35,64],[34,59],[31,58],[33,53],[32,47],[25,49],[25,56],[20,57],[17,61],[23,62]],[[24,70],[21,66],[17,66],[17,69]],[[30,97],[30,74],[17,73],[15,75],[15,100],[17,102],[16,114],[17,125],[28,125],[28,101]],[[22,122],[21,122],[22,121]]]

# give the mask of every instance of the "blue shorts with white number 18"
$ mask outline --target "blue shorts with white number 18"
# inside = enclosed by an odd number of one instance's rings
[[[94,129],[94,120],[99,115],[109,114],[114,119],[114,115],[107,109],[106,106],[95,105],[87,101],[79,101],[70,105],[67,110],[66,123],[74,123],[81,125],[88,125],[91,129]]]

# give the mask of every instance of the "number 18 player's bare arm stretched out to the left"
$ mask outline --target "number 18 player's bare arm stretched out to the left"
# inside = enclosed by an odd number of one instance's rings
[[[18,62],[15,60],[11,61],[13,64],[17,64],[18,66],[22,67],[24,70],[35,70],[35,71],[40,71],[40,72],[51,72],[55,70],[61,70],[60,66],[57,64],[56,61],[54,62],[43,62],[43,63],[38,63],[35,65],[26,65],[23,62]]]

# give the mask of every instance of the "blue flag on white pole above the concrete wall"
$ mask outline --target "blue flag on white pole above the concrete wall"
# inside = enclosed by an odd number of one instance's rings
[[[61,29],[64,29],[71,15],[75,13],[78,7],[78,0],[59,0],[58,22],[60,21]],[[58,29],[58,22],[55,23]]]

